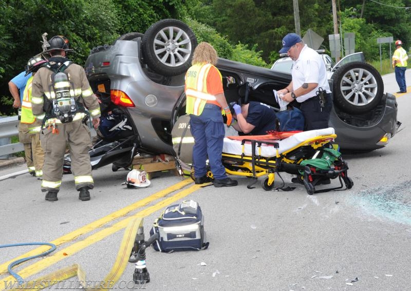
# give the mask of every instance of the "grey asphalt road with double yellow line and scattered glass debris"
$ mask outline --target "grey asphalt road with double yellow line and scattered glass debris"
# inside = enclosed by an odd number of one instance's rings
[[[410,70],[411,80],[409,74]],[[383,80],[385,91],[398,90],[393,74]],[[167,205],[193,199],[202,208],[210,247],[172,254],[147,249],[151,282],[144,288],[407,290],[411,283],[410,98],[411,93],[398,95],[401,131],[387,147],[344,156],[354,182],[350,190],[309,196],[303,186],[289,192],[265,191],[259,185],[247,189],[249,180],[239,178],[237,187],[199,188],[190,183],[168,193],[181,183],[170,173],[152,179],[148,188],[127,189],[121,185],[127,172],[112,172],[106,166],[93,172],[96,187],[90,201],[78,200],[70,174],[63,176],[59,201],[47,202],[40,181],[25,173],[0,177],[0,244],[59,242],[46,258],[14,268],[24,279],[79,263],[87,279],[102,280],[119,251],[125,219],[143,216],[148,238],[154,219]],[[24,165],[1,168],[0,176],[24,169]],[[290,184],[291,175],[284,173],[282,178]],[[34,248],[0,248],[0,289],[4,280],[14,280],[7,274],[10,260]],[[133,272],[134,265],[128,263],[121,280],[128,283]]]

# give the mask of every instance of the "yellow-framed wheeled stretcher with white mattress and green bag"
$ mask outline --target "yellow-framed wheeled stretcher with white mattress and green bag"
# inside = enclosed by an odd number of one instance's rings
[[[353,182],[347,176],[347,163],[331,144],[336,137],[331,127],[260,135],[252,139],[247,136],[228,137],[224,139],[222,164],[229,174],[252,178],[248,188],[259,177],[267,176],[262,186],[265,190],[271,190],[275,174],[279,176],[279,172],[287,172],[297,175],[309,195],[350,189]],[[339,178],[340,186],[315,190],[315,186],[327,178]]]

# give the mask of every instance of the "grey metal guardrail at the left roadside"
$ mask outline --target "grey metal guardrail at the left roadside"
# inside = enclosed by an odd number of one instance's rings
[[[8,158],[11,153],[16,153],[24,150],[22,143],[11,143],[11,137],[18,134],[18,117],[0,118],[0,159]]]

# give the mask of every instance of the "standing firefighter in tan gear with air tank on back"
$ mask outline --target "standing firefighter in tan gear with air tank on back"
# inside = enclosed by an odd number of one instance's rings
[[[41,189],[47,191],[47,201],[57,201],[63,175],[66,148],[70,150],[71,170],[74,174],[79,199],[90,200],[89,189],[94,188],[88,149],[90,130],[86,125],[88,109],[92,124],[100,123],[100,106],[87,81],[84,69],[66,59],[68,40],[53,36],[45,52],[48,63],[39,69],[32,82],[32,111],[43,121],[41,145],[45,153]]]

